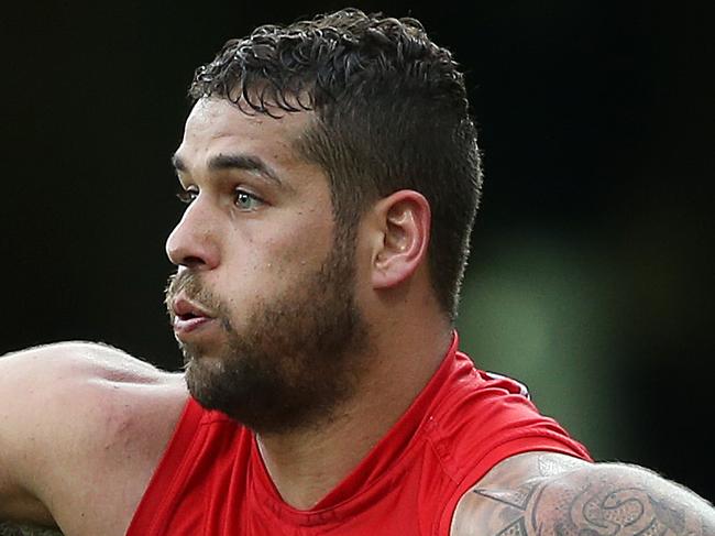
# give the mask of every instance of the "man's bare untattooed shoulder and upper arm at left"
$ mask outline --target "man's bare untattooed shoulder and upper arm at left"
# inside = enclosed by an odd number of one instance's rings
[[[106,344],[0,357],[0,521],[91,524],[84,510],[106,504],[96,510],[125,523],[186,400],[180,374]]]

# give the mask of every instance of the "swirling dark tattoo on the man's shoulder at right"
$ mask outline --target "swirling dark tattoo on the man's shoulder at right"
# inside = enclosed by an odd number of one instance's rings
[[[495,536],[715,535],[715,514],[704,501],[626,467],[593,466],[532,479],[516,490],[473,493],[495,504],[484,533]]]

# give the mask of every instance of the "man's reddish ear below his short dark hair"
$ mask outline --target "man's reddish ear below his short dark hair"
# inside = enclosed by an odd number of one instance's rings
[[[414,190],[395,192],[374,207],[372,284],[389,288],[408,280],[427,256],[431,212]]]

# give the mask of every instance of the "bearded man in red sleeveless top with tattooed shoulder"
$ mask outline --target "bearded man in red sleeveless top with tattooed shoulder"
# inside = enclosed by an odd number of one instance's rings
[[[453,331],[481,175],[462,75],[344,10],[199,68],[167,242],[185,374],[68,342],[0,360],[0,519],[67,535],[715,534],[592,463]]]

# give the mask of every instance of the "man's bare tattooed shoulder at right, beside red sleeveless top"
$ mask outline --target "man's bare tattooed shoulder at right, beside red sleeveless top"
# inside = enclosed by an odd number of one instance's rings
[[[715,511],[647,469],[530,452],[494,468],[460,501],[452,536],[715,535]]]

